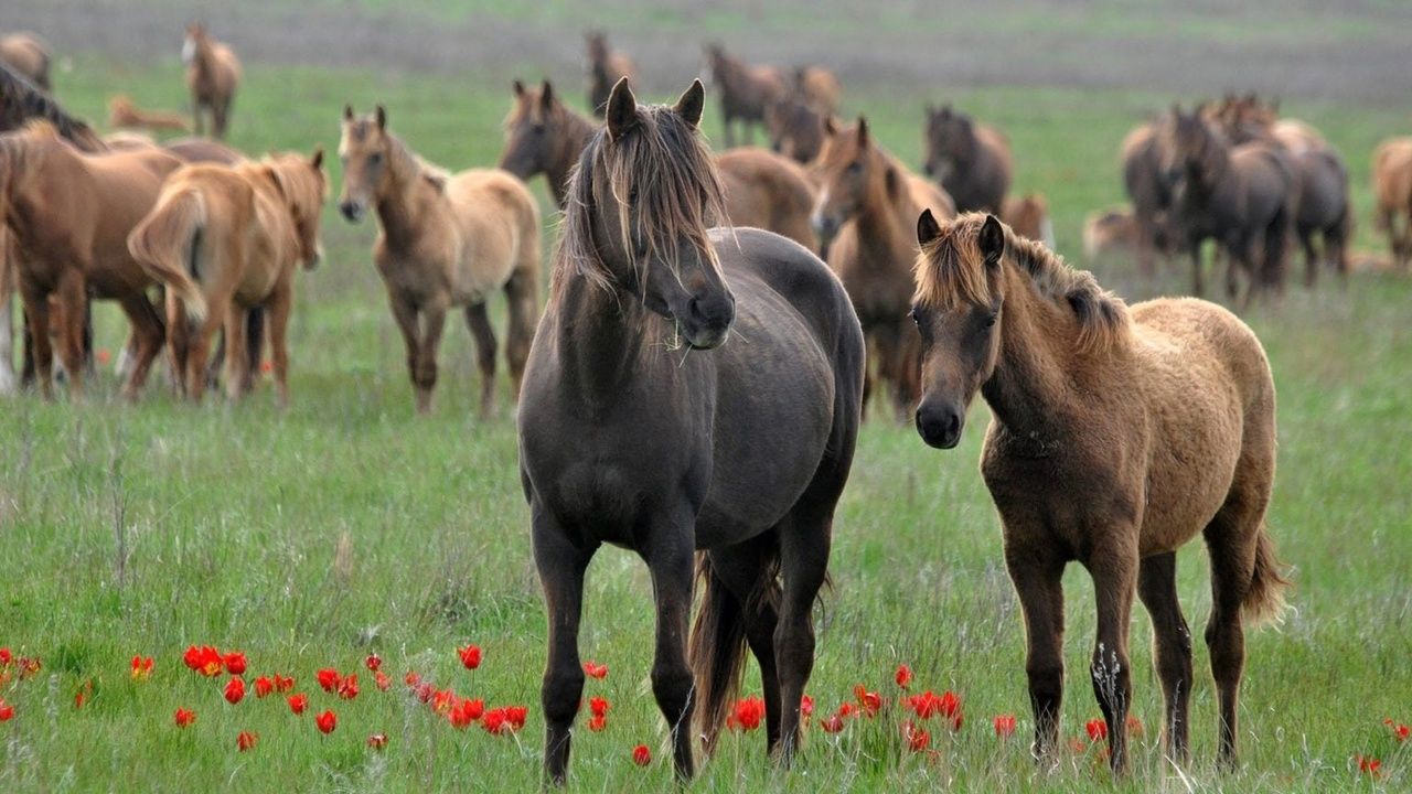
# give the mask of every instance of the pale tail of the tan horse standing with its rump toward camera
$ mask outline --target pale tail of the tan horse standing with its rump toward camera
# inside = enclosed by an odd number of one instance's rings
[[[201,233],[206,202],[193,189],[162,194],[157,206],[127,237],[127,250],[143,270],[181,300],[191,322],[206,316],[201,277]]]

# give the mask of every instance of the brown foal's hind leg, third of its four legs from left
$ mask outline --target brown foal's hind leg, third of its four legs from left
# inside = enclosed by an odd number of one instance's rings
[[[1192,697],[1192,632],[1176,598],[1176,552],[1158,554],[1138,569],[1138,596],[1152,616],[1152,656],[1162,680],[1166,712],[1166,754],[1176,763],[1187,760]]]

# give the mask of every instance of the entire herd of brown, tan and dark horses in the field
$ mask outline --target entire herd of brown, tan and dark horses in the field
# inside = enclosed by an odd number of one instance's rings
[[[226,61],[196,32],[193,62]],[[1275,390],[1254,333],[1197,298],[1130,307],[1069,267],[1042,242],[1042,199],[1022,211],[1007,201],[1004,136],[949,106],[928,109],[925,175],[914,174],[867,119],[834,119],[840,89],[826,69],[791,75],[713,45],[727,137],[765,124],[774,144],[717,154],[699,133],[702,82],[675,105],[638,105],[633,64],[602,34],[587,45],[589,106],[602,120],[548,81],[517,82],[498,168],[425,162],[381,106],[345,107],[337,148],[339,212],[377,218],[373,260],[418,410],[431,407],[453,308],[477,345],[480,410],[493,410],[486,305],[507,297],[520,476],[549,612],[546,774],[568,773],[583,579],[603,544],[635,551],[651,572],[651,682],[678,774],[690,777],[696,750],[714,746],[746,653],[762,677],[770,752],[789,763],[834,507],[877,384],[939,449],[959,444],[977,393],[991,408],[981,472],[1025,620],[1036,757],[1053,759],[1058,745],[1060,581],[1079,562],[1097,593],[1089,672],[1113,769],[1128,763],[1134,596],[1154,622],[1165,752],[1187,759],[1192,639],[1175,565],[1202,534],[1219,754],[1234,764],[1244,626],[1278,617],[1288,583],[1265,526]],[[195,72],[196,106],[213,109],[219,134],[234,82]],[[55,329],[69,389],[80,390],[93,295],[117,300],[133,324],[127,394],[165,343],[179,390],[199,397],[208,357],[223,357],[239,396],[267,329],[284,400],[294,273],[318,261],[330,192],[322,150],[253,161],[212,141],[103,140],[10,68],[0,79],[0,120],[14,130],[0,136],[6,280],[24,297],[45,396]],[[205,99],[209,86],[232,90]],[[1248,297],[1279,288],[1292,235],[1308,250],[1320,235],[1322,257],[1344,260],[1347,172],[1272,105],[1173,107],[1124,154],[1134,205],[1121,218],[1144,267],[1186,250],[1199,292],[1200,244],[1214,237],[1231,271],[1247,274]],[[1412,174],[1412,146],[1388,146],[1377,164],[1382,223],[1404,263],[1412,229],[1396,226],[1412,178],[1384,175],[1385,164]],[[542,314],[541,213],[524,182],[539,174],[562,212]],[[1018,218],[1032,225],[1005,222]],[[165,318],[148,297],[157,287]],[[217,335],[223,352],[212,355]]]

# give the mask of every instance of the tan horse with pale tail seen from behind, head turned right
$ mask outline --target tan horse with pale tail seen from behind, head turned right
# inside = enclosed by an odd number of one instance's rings
[[[281,154],[234,167],[185,165],[157,206],[133,229],[127,247],[167,287],[167,328],[178,390],[201,401],[206,355],[225,328],[230,350],[246,349],[247,312],[270,312],[270,349],[281,407],[289,403],[285,332],[297,266],[319,261],[319,211],[328,182],[323,150]],[[250,357],[226,356],[226,391],[253,384]]]

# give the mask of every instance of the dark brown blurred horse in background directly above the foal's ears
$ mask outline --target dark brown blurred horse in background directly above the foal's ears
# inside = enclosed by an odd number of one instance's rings
[[[926,109],[923,171],[952,196],[959,212],[1001,212],[1014,170],[1010,141],[950,105]]]

